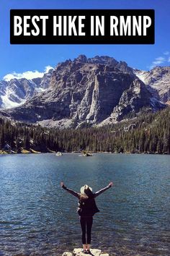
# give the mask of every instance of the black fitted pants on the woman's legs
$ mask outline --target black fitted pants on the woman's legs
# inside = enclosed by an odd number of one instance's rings
[[[93,224],[93,217],[80,217],[80,223],[82,244],[91,244],[91,227]]]

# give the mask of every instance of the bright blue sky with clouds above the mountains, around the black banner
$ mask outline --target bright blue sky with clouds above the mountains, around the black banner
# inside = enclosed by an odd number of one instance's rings
[[[10,9],[155,9],[154,45],[10,45]],[[150,70],[170,64],[170,0],[1,0],[0,80],[42,77],[58,62],[112,56],[128,66]]]

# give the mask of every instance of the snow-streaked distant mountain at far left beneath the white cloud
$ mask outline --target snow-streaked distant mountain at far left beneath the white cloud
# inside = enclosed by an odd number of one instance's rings
[[[8,82],[0,81],[0,108],[13,108],[22,105],[33,95],[42,92],[50,83],[53,69],[42,78],[32,80],[14,78]]]

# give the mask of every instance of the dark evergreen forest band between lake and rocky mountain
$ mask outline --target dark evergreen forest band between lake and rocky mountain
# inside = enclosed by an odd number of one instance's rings
[[[0,119],[0,150],[170,153],[170,108],[106,127],[47,129]]]

